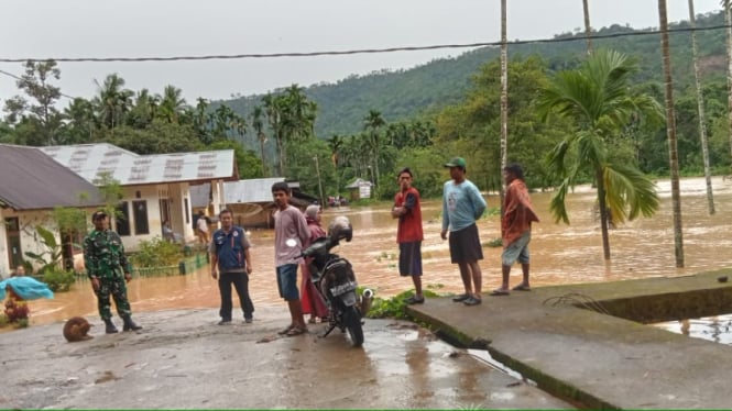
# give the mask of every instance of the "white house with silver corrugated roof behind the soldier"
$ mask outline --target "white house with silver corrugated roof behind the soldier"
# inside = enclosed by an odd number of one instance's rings
[[[108,175],[123,190],[118,207],[121,219],[112,227],[127,251],[136,251],[143,240],[162,236],[168,220],[175,233],[195,238],[190,186],[211,187],[209,212],[222,208],[223,181],[238,180],[233,149],[196,153],[138,155],[107,143],[39,147],[58,164],[85,180],[99,185]]]

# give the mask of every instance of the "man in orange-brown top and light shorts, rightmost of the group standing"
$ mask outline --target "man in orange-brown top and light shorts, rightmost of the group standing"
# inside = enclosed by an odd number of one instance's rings
[[[501,268],[503,282],[491,296],[509,295],[509,278],[511,266],[521,263],[524,280],[513,288],[514,291],[531,291],[528,284],[528,242],[532,240],[532,222],[539,219],[534,212],[528,189],[524,182],[524,170],[517,164],[503,168],[503,180],[506,185],[503,200],[503,216],[501,218],[501,237],[503,240],[503,254]]]

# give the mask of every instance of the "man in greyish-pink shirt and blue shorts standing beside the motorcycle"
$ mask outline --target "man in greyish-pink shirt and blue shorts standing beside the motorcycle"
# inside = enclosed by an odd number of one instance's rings
[[[272,198],[277,208],[274,213],[274,266],[277,267],[280,297],[287,301],[291,316],[289,325],[280,334],[287,336],[307,332],[297,290],[297,267],[303,263],[303,245],[310,237],[305,215],[289,204],[291,197],[292,190],[286,182],[272,185]],[[288,240],[293,240],[294,244],[287,244]]]

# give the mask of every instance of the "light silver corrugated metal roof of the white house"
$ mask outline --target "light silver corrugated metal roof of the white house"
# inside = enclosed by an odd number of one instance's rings
[[[143,156],[108,143],[39,148],[90,182],[103,173],[121,186],[239,179],[233,149]]]

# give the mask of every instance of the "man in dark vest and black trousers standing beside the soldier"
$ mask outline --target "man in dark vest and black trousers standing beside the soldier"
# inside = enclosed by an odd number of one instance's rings
[[[249,240],[244,230],[233,225],[231,210],[219,213],[221,229],[217,230],[209,245],[211,255],[211,277],[219,280],[221,309],[219,325],[231,324],[231,285],[237,289],[244,322],[251,323],[254,304],[249,297],[249,275],[252,274],[252,259],[249,254]],[[218,269],[218,273],[217,273]]]

